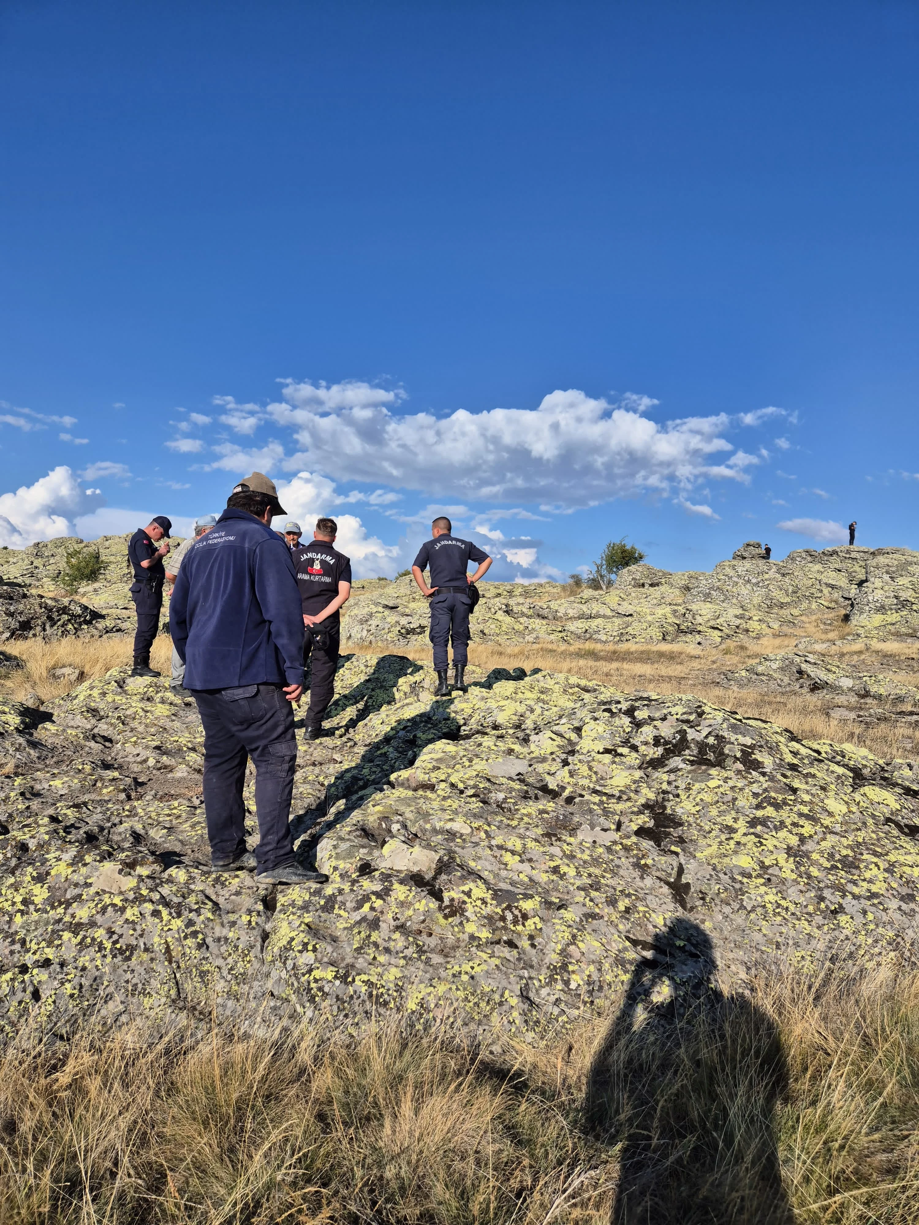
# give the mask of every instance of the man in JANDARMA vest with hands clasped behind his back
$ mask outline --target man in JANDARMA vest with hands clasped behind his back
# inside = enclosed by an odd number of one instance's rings
[[[306,635],[304,663],[312,657],[310,708],[306,712],[304,740],[316,740],[320,735],[322,717],[335,697],[335,673],[342,637],[339,609],[350,595],[350,557],[333,548],[337,535],[338,524],[335,519],[316,519],[312,543],[301,544],[293,550]]]

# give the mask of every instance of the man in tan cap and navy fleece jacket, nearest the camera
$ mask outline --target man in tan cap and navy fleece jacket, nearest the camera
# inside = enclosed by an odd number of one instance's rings
[[[326,877],[295,862],[289,826],[303,611],[290,550],[270,527],[273,514],[286,513],[266,475],[241,480],[217,527],[181,564],[169,626],[205,728],[212,870],[255,867],[256,881],[301,884]],[[245,842],[248,757],[255,766],[255,856]]]

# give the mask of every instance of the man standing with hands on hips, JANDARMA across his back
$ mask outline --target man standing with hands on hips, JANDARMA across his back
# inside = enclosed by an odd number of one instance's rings
[[[469,583],[477,583],[491,565],[491,559],[472,540],[460,540],[452,535],[453,524],[441,516],[431,524],[433,539],[426,540],[412,564],[412,573],[422,589],[430,597],[431,630],[434,644],[434,670],[437,674],[435,697],[447,697],[447,638],[453,643],[453,688],[466,692],[463,673],[468,663],[469,612],[472,599]],[[469,578],[469,562],[479,562],[479,568]],[[424,581],[424,568],[431,575],[431,586]]]

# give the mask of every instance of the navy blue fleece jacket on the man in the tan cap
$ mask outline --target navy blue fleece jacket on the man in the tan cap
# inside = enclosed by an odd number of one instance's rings
[[[169,603],[185,688],[303,685],[303,609],[284,540],[224,511],[189,549]]]

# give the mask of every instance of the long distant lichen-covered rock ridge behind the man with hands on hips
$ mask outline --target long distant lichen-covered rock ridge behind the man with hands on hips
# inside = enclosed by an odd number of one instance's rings
[[[472,625],[483,642],[714,644],[788,633],[826,611],[844,614],[855,637],[919,636],[919,552],[909,549],[799,549],[768,565],[758,556],[722,561],[712,573],[642,564],[605,593],[554,583],[479,589]],[[410,578],[368,584],[348,605],[352,643],[418,644],[426,633],[428,605]]]

